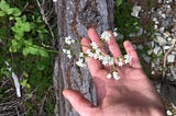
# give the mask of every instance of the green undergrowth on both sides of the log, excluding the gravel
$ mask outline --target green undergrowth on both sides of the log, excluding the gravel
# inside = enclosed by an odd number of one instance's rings
[[[50,8],[52,2],[47,3]],[[129,0],[114,2],[114,24],[123,35],[119,39],[122,46],[124,38],[140,31],[141,22],[131,16],[133,4]],[[54,49],[56,26],[54,14],[50,12],[47,19],[45,11],[50,10],[43,7],[37,0],[0,0],[0,108],[18,103],[15,111],[9,107],[0,109],[0,114],[54,115],[54,53],[51,49]],[[12,72],[22,86],[20,98],[15,95]]]

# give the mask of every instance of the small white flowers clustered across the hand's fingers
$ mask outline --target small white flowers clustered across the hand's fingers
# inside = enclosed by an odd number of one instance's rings
[[[116,32],[113,32],[113,35],[118,36]],[[109,40],[110,37],[111,37],[111,34],[108,32],[103,32],[101,35],[102,40]],[[72,45],[75,42],[76,40],[73,39],[70,36],[65,37],[65,43],[67,45]],[[98,46],[95,42],[92,42],[90,46],[91,46],[91,49],[88,49],[86,53],[79,53],[78,61],[76,61],[76,65],[78,67],[81,67],[81,68],[86,67],[87,57],[92,57],[94,59],[101,61],[103,66],[111,66],[111,67],[116,67],[116,65],[118,65],[119,67],[122,67],[124,65],[129,65],[131,61],[131,56],[129,55],[124,55],[123,57],[119,57],[119,58],[113,58],[109,55],[106,55],[105,53],[101,51],[100,46]],[[66,54],[69,59],[72,58],[72,51],[69,49],[63,49],[63,53]],[[108,79],[113,78],[114,80],[120,79],[117,70],[108,73],[107,78]]]

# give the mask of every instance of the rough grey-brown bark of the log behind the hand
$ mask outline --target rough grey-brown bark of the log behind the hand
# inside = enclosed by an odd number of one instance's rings
[[[58,50],[65,47],[64,38],[72,36],[80,39],[87,37],[87,28],[96,27],[99,33],[113,26],[113,0],[58,0]],[[72,46],[76,53],[79,45]],[[96,89],[87,69],[75,65],[76,56],[72,59],[57,55],[54,67],[54,88],[56,92],[55,114],[59,116],[78,116],[69,103],[63,97],[64,89],[80,91],[85,97],[97,104]]]

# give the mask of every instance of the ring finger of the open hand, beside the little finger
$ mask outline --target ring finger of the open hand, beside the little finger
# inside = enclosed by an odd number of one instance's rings
[[[119,48],[119,45],[117,44],[117,40],[112,34],[112,32],[108,32],[111,34],[110,39],[107,42],[109,50],[111,51],[113,57],[122,57],[122,53]]]

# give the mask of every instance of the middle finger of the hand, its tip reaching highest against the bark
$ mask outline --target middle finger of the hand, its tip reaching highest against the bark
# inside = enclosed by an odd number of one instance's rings
[[[89,35],[90,40],[95,42],[99,46],[101,51],[106,54],[106,50],[105,50],[103,45],[102,45],[102,42],[101,42],[97,31],[95,28],[89,28],[88,30],[88,35]]]

